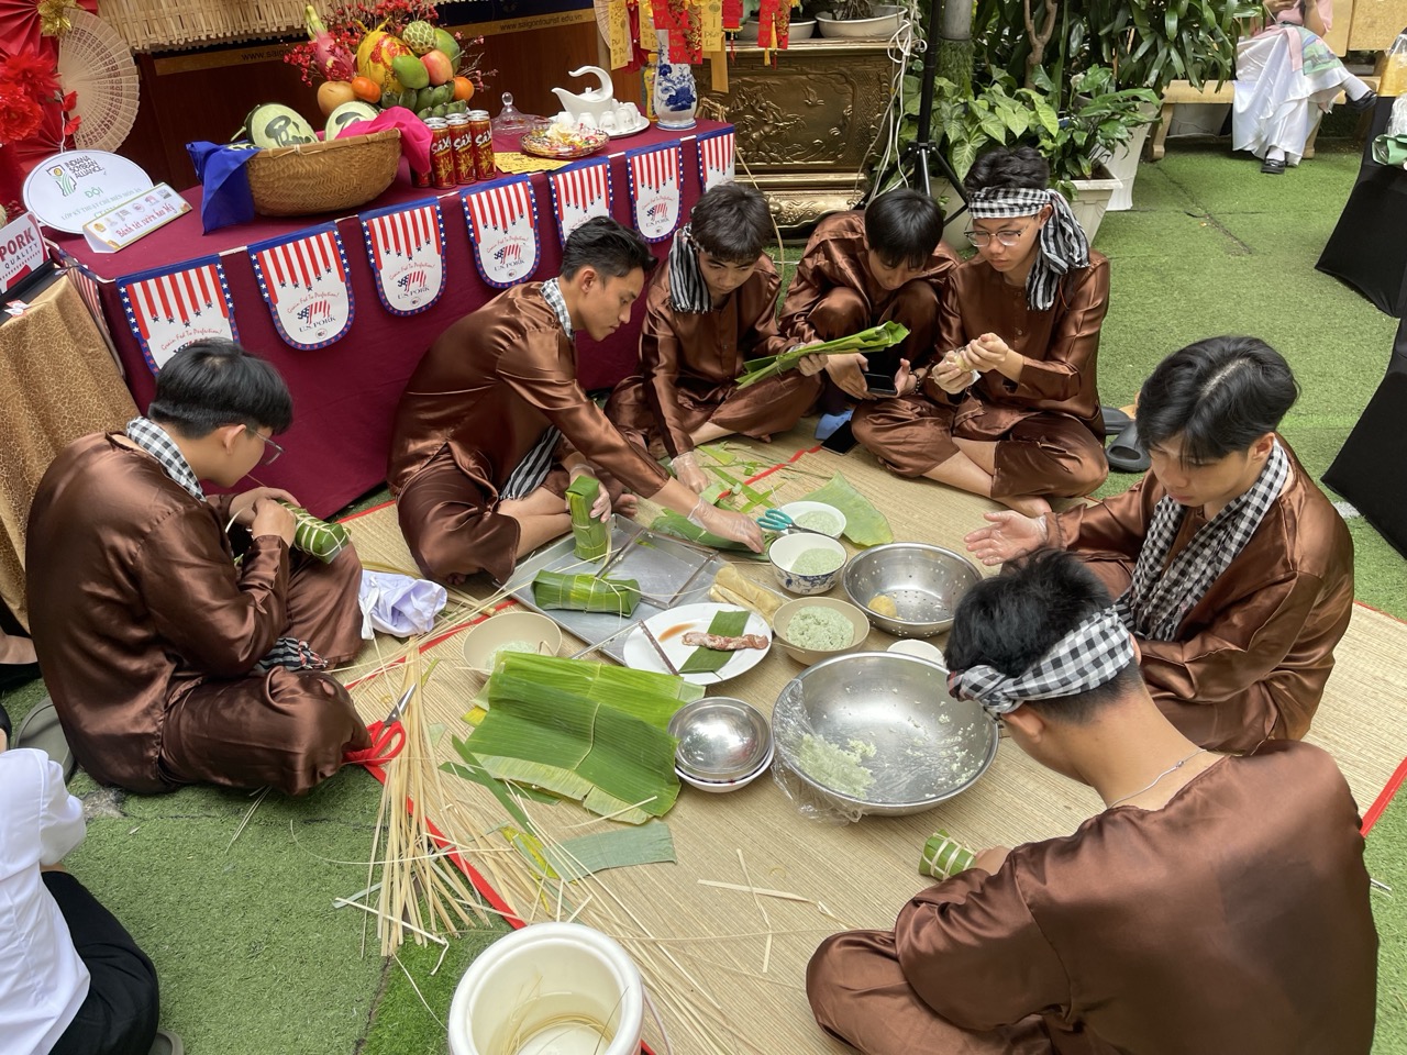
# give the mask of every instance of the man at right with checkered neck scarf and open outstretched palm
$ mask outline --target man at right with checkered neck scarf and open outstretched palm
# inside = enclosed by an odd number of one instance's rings
[[[1138,395],[1152,470],[1121,495],[1044,518],[988,513],[985,564],[1068,549],[1119,598],[1154,701],[1193,743],[1299,740],[1354,606],[1354,540],[1276,433],[1297,395],[1255,338],[1168,356]]]

